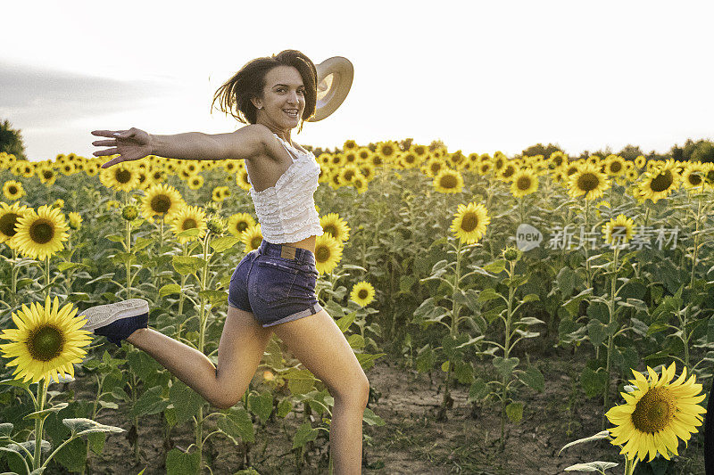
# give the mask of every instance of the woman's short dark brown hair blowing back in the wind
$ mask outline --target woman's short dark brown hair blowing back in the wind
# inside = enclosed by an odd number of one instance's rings
[[[305,86],[305,110],[300,121],[300,126],[297,132],[303,129],[305,120],[310,119],[315,113],[315,103],[317,102],[318,88],[318,71],[315,69],[315,64],[297,50],[284,50],[272,56],[263,56],[255,58],[252,61],[245,63],[233,78],[228,79],[223,86],[213,95],[211,110],[216,100],[219,100],[220,111],[228,112],[231,116],[243,122],[244,124],[255,124],[258,117],[258,111],[255,109],[251,99],[254,97],[262,98],[263,88],[265,87],[265,75],[268,71],[278,66],[293,66],[300,72]],[[236,108],[237,115],[233,113],[233,108]]]

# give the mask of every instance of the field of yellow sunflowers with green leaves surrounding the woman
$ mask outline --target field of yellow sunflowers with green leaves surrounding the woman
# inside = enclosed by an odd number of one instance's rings
[[[318,298],[372,381],[364,472],[703,473],[714,164],[412,142],[306,147]],[[275,335],[218,410],[81,329],[146,299],[217,364],[231,274],[262,242],[242,160],[108,160],[0,153],[0,471],[327,473],[333,399]],[[380,404],[397,381],[432,403],[408,429]]]

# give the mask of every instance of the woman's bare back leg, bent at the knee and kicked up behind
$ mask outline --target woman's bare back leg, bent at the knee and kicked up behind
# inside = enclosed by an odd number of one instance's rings
[[[203,399],[227,409],[243,397],[271,333],[272,329],[263,328],[251,312],[228,306],[220,335],[218,367],[197,349],[150,328],[133,332],[127,341],[154,357]]]

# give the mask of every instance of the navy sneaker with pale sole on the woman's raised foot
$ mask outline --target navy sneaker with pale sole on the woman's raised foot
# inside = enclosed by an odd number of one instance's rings
[[[149,302],[145,299],[122,300],[107,305],[89,307],[79,315],[87,317],[82,330],[106,337],[116,346],[139,328],[149,323]]]

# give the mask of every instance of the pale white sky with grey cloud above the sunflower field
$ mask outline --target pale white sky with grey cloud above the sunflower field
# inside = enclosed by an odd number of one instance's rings
[[[30,160],[99,150],[95,129],[231,132],[214,92],[247,61],[297,49],[345,56],[350,94],[293,132],[571,155],[627,143],[666,152],[714,139],[714,4],[364,0],[5,2],[0,120]],[[469,6],[466,6],[469,5]]]

